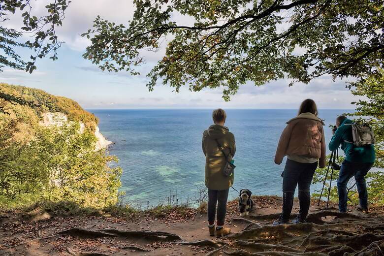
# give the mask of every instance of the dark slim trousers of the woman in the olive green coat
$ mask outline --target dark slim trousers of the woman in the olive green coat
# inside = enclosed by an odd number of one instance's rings
[[[208,190],[208,223],[215,224],[216,205],[217,205],[217,225],[223,226],[225,222],[226,201],[228,199],[227,190]]]

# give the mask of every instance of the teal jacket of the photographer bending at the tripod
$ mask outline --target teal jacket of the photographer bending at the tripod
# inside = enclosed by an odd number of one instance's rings
[[[368,145],[364,147],[356,147],[352,143],[352,121],[349,119],[344,120],[339,128],[333,134],[331,141],[329,142],[329,150],[336,150],[340,144],[341,149],[346,155],[345,160],[349,162],[374,162],[375,161],[375,148],[373,145]]]

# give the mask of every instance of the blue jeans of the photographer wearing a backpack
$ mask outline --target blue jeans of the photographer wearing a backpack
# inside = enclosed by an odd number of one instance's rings
[[[371,169],[371,162],[349,162],[344,160],[340,167],[339,179],[337,180],[337,192],[339,194],[339,211],[347,212],[347,184],[354,176],[359,203],[363,209],[368,209],[368,192],[365,184],[365,175]]]

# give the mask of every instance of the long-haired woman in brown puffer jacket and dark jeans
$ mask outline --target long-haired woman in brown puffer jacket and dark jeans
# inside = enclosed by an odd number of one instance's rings
[[[275,163],[281,164],[288,156],[283,174],[283,211],[273,225],[289,222],[292,211],[293,195],[298,185],[300,211],[293,223],[304,223],[311,204],[310,186],[318,162],[325,166],[324,123],[318,118],[314,100],[306,99],[301,103],[297,117],[287,122],[279,145]]]

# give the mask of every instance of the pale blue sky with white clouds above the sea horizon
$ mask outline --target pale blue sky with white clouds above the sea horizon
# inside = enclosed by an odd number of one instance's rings
[[[48,0],[32,1],[32,14],[45,12]],[[113,4],[111,4],[113,2]],[[146,53],[146,62],[140,67],[142,75],[126,72],[108,73],[84,60],[82,54],[90,44],[80,36],[92,28],[97,15],[117,24],[128,24],[133,16],[132,0],[73,0],[66,10],[63,27],[58,30],[59,40],[65,41],[59,49],[59,60],[46,58],[37,61],[32,74],[22,70],[4,68],[0,82],[42,89],[50,94],[66,96],[86,109],[102,108],[298,108],[305,98],[313,98],[321,109],[352,109],[356,100],[346,88],[347,80],[332,81],[329,76],[314,79],[310,84],[296,83],[288,87],[289,79],[272,81],[260,87],[251,82],[240,87],[230,102],[222,98],[224,88],[190,92],[188,87],[175,93],[174,88],[158,85],[153,92],[145,86],[145,74],[156,64],[164,52]],[[8,17],[10,18],[10,16]],[[15,19],[16,18],[16,19]],[[180,20],[180,18],[179,18]],[[19,29],[20,16],[12,17],[3,26]],[[28,35],[25,36],[28,38]],[[32,54],[20,49],[19,54],[28,60]]]

